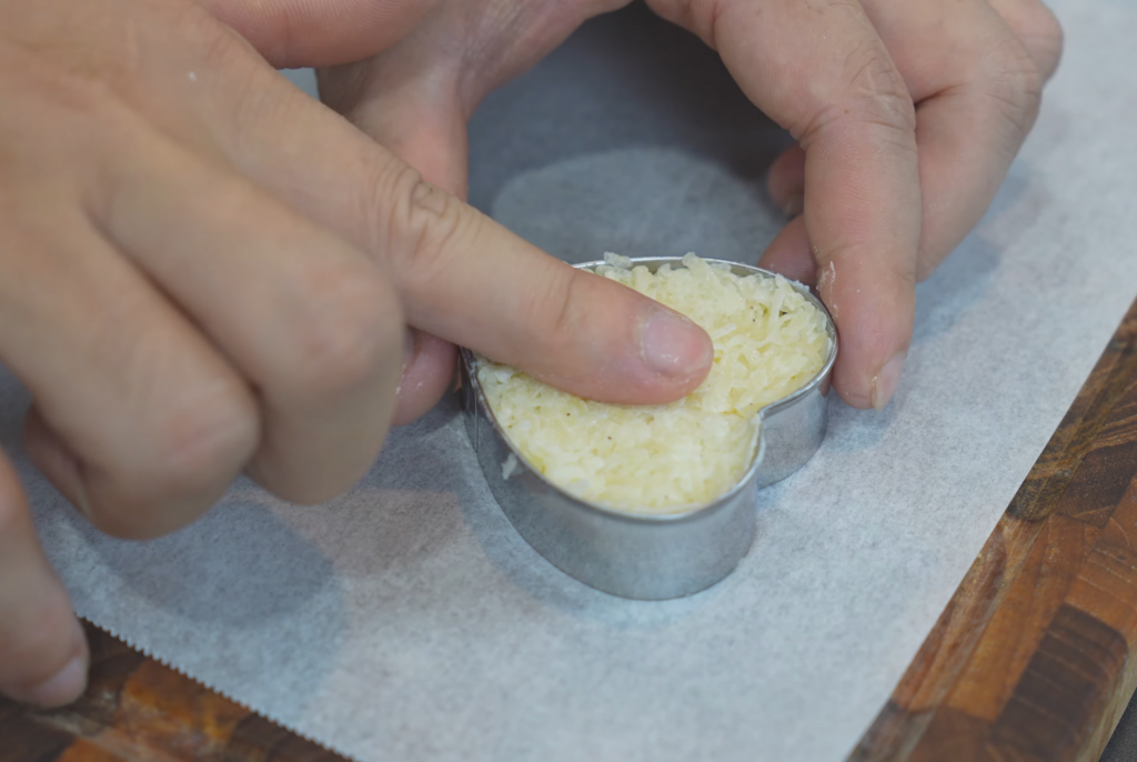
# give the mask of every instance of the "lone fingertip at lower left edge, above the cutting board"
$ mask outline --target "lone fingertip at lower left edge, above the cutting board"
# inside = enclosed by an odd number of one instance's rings
[[[88,661],[83,629],[0,453],[0,694],[39,706],[70,703],[86,686]]]

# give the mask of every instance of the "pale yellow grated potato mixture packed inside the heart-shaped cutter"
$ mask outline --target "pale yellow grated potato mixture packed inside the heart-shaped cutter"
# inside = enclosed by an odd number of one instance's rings
[[[748,470],[758,411],[803,387],[829,356],[824,316],[785,278],[741,278],[694,254],[682,262],[682,268],[664,265],[653,274],[607,254],[596,272],[687,315],[711,336],[714,365],[683,399],[597,403],[479,358],[478,380],[513,445],[578,498],[655,514],[713,502]],[[504,464],[506,478],[515,465]]]

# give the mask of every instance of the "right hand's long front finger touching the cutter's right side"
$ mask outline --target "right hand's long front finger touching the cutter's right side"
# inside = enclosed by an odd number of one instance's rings
[[[913,105],[883,43],[855,2],[652,7],[716,48],[804,149],[805,227],[841,337],[833,386],[883,406],[912,338],[920,235]]]

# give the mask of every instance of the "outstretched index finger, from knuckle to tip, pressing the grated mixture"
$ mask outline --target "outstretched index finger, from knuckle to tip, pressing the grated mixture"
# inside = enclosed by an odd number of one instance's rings
[[[391,176],[399,209],[381,247],[409,322],[583,397],[655,404],[706,376],[709,338],[623,285],[516,238],[416,173]]]

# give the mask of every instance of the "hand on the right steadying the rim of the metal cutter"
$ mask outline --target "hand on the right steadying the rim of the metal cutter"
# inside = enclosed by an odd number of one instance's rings
[[[625,0],[441,0],[398,42],[321,74],[325,101],[454,192],[493,86]],[[979,221],[1034,124],[1062,33],[1038,0],[648,0],[716,48],[799,146],[770,173],[794,220],[764,266],[815,283],[833,386],[882,408],[927,278]],[[803,214],[804,210],[804,214]],[[819,276],[820,275],[820,276]]]

